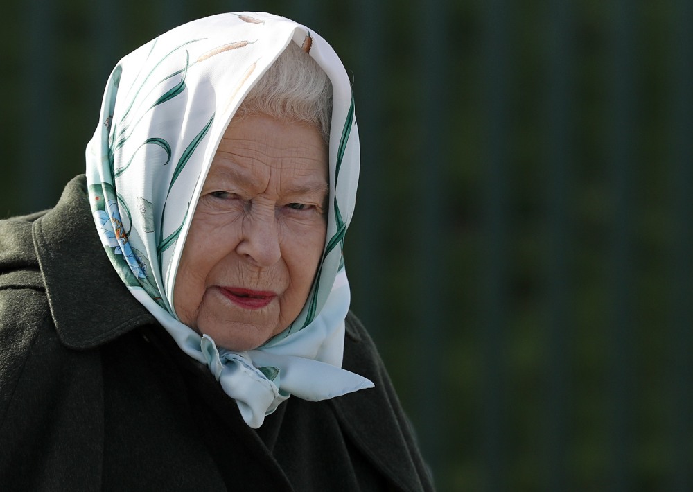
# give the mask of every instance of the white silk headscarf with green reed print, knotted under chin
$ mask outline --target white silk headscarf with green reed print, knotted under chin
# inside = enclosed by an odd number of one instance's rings
[[[229,351],[179,321],[173,287],[222,135],[289,43],[308,52],[333,85],[324,253],[297,319],[257,349]],[[112,265],[178,346],[207,364],[249,426],[262,425],[291,394],[319,401],[373,387],[341,369],[350,300],[342,247],[356,198],[359,147],[349,77],[322,37],[261,12],[213,15],[174,28],[116,65],[86,155],[94,222]]]

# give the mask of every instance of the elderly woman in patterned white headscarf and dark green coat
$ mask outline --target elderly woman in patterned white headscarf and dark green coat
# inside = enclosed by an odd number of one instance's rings
[[[0,222],[3,490],[426,490],[342,259],[349,79],[273,15],[119,62],[58,205]]]

